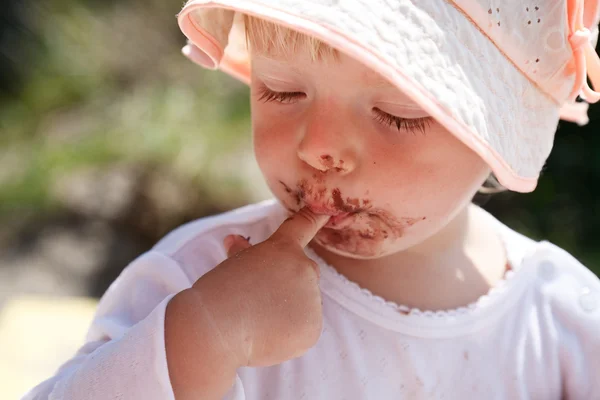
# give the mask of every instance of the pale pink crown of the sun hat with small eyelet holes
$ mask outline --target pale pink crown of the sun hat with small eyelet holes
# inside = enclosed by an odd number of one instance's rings
[[[597,39],[598,0],[450,1],[558,104],[574,100],[582,85],[575,53]]]

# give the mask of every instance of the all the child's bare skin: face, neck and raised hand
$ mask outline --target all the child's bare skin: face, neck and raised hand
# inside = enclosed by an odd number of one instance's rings
[[[469,205],[488,168],[401,92],[343,55],[255,53],[253,63],[256,157],[291,216],[255,245],[225,237],[228,258],[169,302],[177,400],[221,399],[238,368],[314,346],[323,312],[307,245],[363,288],[421,309],[465,305],[506,270],[499,239]],[[409,120],[394,127],[382,112]]]

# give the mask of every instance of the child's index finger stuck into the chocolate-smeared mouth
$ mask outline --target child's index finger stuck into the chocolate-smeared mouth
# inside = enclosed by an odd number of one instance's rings
[[[319,232],[319,229],[327,224],[329,218],[331,216],[315,214],[308,207],[304,207],[283,221],[275,233],[273,233],[273,236],[292,239],[304,248]]]

